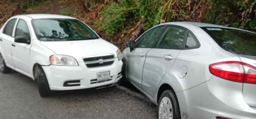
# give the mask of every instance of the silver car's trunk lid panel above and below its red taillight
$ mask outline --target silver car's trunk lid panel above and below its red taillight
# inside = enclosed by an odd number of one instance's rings
[[[241,61],[256,67],[256,56],[240,55]],[[251,107],[256,107],[256,84],[243,84],[244,100]]]

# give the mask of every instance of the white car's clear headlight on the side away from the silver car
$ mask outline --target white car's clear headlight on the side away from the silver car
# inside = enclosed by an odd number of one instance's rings
[[[52,55],[50,57],[50,63],[52,65],[61,65],[61,66],[78,66],[74,57],[65,56],[65,55]]]

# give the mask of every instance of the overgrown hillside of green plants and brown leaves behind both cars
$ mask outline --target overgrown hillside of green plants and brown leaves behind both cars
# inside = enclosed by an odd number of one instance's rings
[[[256,32],[256,0],[0,0],[0,4],[5,6],[0,8],[0,25],[13,15],[59,13],[79,18],[121,50],[124,40],[164,22],[205,22]]]

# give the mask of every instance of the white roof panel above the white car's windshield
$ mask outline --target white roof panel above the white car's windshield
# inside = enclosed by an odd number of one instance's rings
[[[70,16],[63,16],[63,15],[53,15],[53,14],[28,14],[28,15],[19,15],[19,16],[27,16],[32,19],[75,19],[74,17]]]

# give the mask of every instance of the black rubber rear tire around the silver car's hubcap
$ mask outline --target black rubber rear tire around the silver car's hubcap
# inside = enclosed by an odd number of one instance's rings
[[[162,99],[165,97],[167,97],[171,101],[171,104],[172,104],[172,112],[173,112],[172,119],[181,119],[179,102],[177,100],[175,93],[171,90],[165,90],[161,94],[161,97],[160,97],[160,99],[158,101],[158,105],[157,105],[157,119],[160,119],[159,118],[159,107],[160,107],[160,103],[161,103]]]

